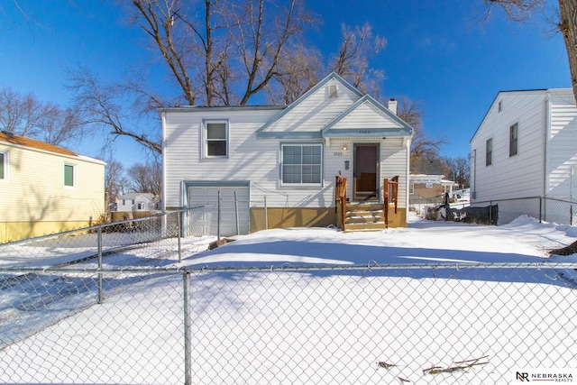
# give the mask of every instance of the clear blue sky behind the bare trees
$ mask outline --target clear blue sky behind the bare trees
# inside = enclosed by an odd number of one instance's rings
[[[32,92],[41,101],[69,105],[66,69],[83,65],[109,80],[134,64],[153,63],[144,34],[123,22],[115,1],[0,0],[0,87]],[[431,137],[444,136],[442,155],[466,157],[469,141],[501,90],[571,87],[563,36],[542,14],[524,23],[502,12],[481,21],[481,0],[309,0],[323,23],[308,34],[325,56],[341,41],[341,23],[371,23],[387,45],[371,62],[382,69],[383,95],[407,96],[424,112]],[[495,10],[497,11],[497,10]],[[152,56],[151,56],[152,55]],[[165,80],[158,65],[152,69]],[[160,127],[159,127],[160,130]],[[88,156],[94,138],[80,146]],[[130,140],[115,143],[126,166],[142,160]]]

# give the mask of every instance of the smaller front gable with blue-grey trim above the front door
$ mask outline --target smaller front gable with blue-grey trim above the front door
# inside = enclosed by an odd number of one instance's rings
[[[370,121],[363,118],[367,112],[372,115]],[[362,126],[357,123],[361,118],[363,118]],[[381,105],[374,97],[365,95],[327,124],[323,128],[322,136],[383,137],[410,136],[412,133],[413,128],[407,122]]]

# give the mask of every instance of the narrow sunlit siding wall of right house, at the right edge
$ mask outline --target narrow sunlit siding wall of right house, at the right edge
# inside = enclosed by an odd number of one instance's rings
[[[577,109],[572,90],[552,90],[551,129],[547,147],[547,195],[577,197]],[[572,189],[572,191],[571,191]]]

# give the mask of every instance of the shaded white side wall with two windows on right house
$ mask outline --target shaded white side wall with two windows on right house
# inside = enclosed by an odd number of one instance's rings
[[[501,111],[499,111],[499,103]],[[509,127],[518,124],[517,155],[509,156]],[[485,145],[492,138],[492,164]],[[471,142],[475,201],[536,197],[544,189],[545,91],[499,93]]]

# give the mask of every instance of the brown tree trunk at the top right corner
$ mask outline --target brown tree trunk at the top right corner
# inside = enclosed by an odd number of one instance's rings
[[[559,13],[561,21],[558,26],[563,32],[573,96],[577,101],[577,0],[559,0]]]

